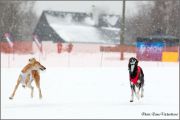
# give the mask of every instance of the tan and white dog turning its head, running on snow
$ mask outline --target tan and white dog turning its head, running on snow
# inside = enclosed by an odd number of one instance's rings
[[[13,99],[15,92],[21,83],[22,86],[28,87],[31,89],[31,97],[33,97],[33,90],[34,87],[31,85],[31,83],[35,82],[36,87],[39,90],[39,98],[42,98],[42,93],[41,93],[41,88],[40,88],[40,75],[39,75],[39,70],[44,71],[46,68],[40,64],[35,58],[29,59],[29,63],[21,70],[21,73],[19,75],[19,78],[17,80],[17,84],[14,88],[14,91],[12,95],[9,97],[9,99]]]

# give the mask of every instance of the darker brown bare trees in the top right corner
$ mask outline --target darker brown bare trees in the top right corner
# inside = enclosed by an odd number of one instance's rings
[[[151,10],[152,30],[160,29],[164,34],[180,37],[180,1],[179,0],[157,0]]]

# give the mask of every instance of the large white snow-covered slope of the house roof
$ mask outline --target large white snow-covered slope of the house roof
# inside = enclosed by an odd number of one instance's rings
[[[50,27],[67,42],[112,43],[108,35],[93,26],[94,21],[90,17],[81,22],[75,22],[72,15],[62,17],[46,14],[46,18]]]

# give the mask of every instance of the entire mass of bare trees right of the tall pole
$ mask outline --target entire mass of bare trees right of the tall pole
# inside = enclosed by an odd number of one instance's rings
[[[127,33],[133,39],[159,31],[180,38],[180,1],[156,0],[142,5],[137,16],[127,20]]]

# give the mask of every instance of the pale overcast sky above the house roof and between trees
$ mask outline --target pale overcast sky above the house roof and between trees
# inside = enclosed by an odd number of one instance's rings
[[[150,3],[148,1],[126,1],[126,15],[135,15],[143,4]],[[34,10],[38,16],[43,10],[90,12],[92,5],[107,13],[122,13],[122,1],[37,1]]]

